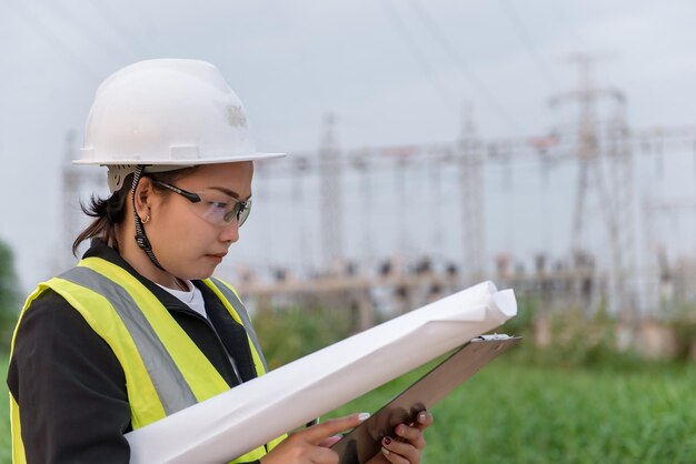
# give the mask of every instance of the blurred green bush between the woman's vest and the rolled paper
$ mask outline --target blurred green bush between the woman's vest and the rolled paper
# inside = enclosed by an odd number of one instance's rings
[[[350,334],[348,310],[288,307],[262,312],[253,317],[269,369],[287,364]]]

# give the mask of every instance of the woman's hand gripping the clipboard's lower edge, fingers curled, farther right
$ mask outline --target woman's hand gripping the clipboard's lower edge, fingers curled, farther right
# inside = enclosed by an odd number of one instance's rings
[[[432,414],[421,411],[412,424],[399,424],[395,432],[397,438],[385,436],[381,452],[372,456],[367,464],[420,464],[422,450],[426,447],[424,431],[432,424]]]

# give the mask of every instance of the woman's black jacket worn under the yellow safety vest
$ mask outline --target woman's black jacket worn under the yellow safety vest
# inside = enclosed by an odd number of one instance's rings
[[[203,316],[133,270],[115,250],[93,240],[84,258],[98,256],[135,275],[169,310],[229,385],[256,377],[245,329],[202,282]],[[217,333],[216,333],[217,332]],[[8,372],[10,393],[20,405],[27,462],[129,462],[123,434],[131,431],[121,364],[81,314],[51,290],[31,303],[17,333]],[[256,461],[258,463],[258,461]]]

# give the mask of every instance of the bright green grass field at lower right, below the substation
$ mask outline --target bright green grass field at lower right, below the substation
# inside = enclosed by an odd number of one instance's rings
[[[0,361],[6,377],[7,359]],[[331,415],[374,412],[419,373]],[[7,386],[0,390],[7,397]],[[0,463],[10,463],[9,420],[0,415]],[[504,357],[435,410],[426,464],[696,463],[696,367],[639,372],[526,367]]]

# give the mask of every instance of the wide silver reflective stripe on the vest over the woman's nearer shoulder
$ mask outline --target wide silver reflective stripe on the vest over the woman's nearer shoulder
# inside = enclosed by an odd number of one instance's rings
[[[83,266],[73,268],[59,278],[90,289],[111,303],[136,343],[167,415],[198,403],[162,341],[122,286]]]

